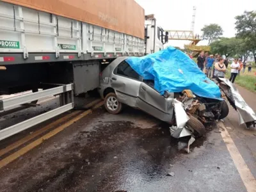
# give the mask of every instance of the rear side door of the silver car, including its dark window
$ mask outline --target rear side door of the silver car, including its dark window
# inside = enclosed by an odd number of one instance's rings
[[[131,66],[122,61],[111,75],[111,87],[116,92],[117,99],[131,107],[136,107],[136,99],[140,90],[140,75]]]

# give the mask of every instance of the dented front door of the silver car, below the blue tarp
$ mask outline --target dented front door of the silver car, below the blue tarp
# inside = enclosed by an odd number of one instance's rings
[[[173,116],[173,93],[168,98],[160,95],[153,86],[140,84],[138,108],[164,122],[171,122]]]

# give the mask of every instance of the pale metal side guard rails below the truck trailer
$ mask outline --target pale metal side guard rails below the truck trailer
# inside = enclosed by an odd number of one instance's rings
[[[53,84],[54,85],[54,84]],[[56,85],[56,84],[55,84]],[[33,118],[29,118],[24,122],[20,122],[19,124],[12,125],[0,131],[0,141],[4,140],[12,136],[13,134],[17,134],[18,132],[24,131],[34,125],[40,124],[45,120],[49,120],[54,116],[58,116],[65,111],[69,111],[74,108],[74,86],[73,84],[58,84],[55,88],[50,88],[47,90],[43,90],[36,93],[28,93],[22,96],[17,96],[9,99],[0,100],[0,109],[6,110],[13,108],[15,106],[20,106],[22,104],[26,104],[33,100],[42,99],[44,97],[49,97],[52,95],[60,95],[60,107],[56,109],[52,109],[46,113],[35,116]]]

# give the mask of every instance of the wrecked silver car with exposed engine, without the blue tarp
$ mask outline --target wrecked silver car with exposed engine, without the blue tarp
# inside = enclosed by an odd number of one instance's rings
[[[99,93],[109,113],[120,113],[126,104],[178,128],[186,126],[186,134],[189,135],[190,132],[191,135],[192,132],[196,137],[205,132],[202,122],[228,115],[225,101],[196,97],[190,90],[180,93],[164,92],[161,95],[154,89],[154,81],[144,80],[125,59],[126,57],[122,57],[114,60],[100,77]],[[179,138],[180,134],[181,131],[179,136],[173,136]]]

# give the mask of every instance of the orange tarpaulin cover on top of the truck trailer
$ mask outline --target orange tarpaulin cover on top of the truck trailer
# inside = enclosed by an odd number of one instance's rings
[[[134,0],[2,0],[144,38],[144,10]]]

